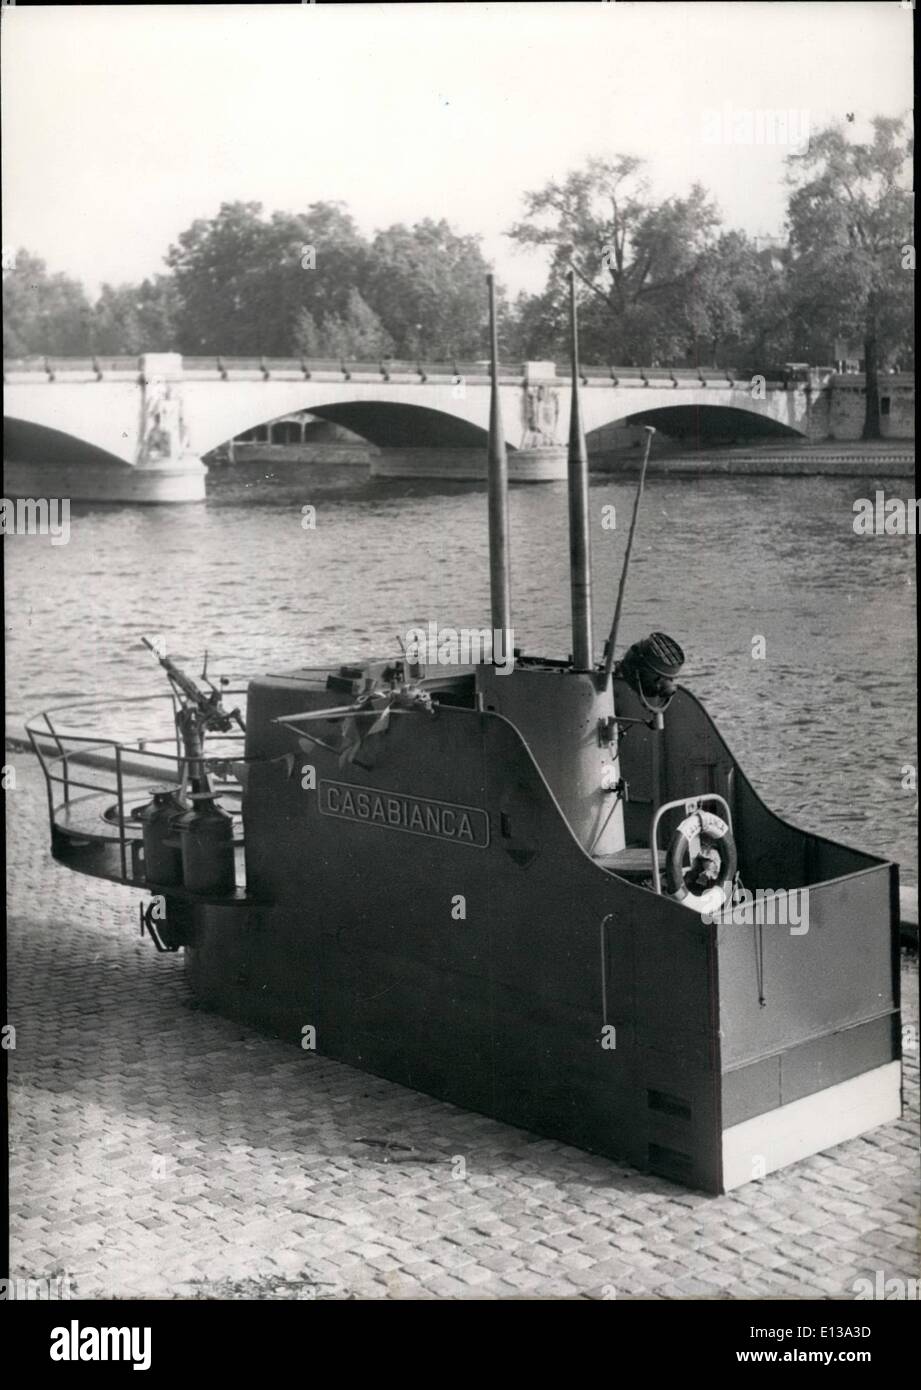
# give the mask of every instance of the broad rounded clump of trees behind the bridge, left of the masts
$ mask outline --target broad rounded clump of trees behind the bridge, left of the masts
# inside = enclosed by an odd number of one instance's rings
[[[240,356],[482,356],[486,261],[447,222],[368,245],[340,203],[263,214],[224,203],[167,254],[182,352]]]

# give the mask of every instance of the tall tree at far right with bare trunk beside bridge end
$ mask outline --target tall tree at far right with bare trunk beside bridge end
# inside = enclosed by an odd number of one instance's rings
[[[863,339],[864,439],[881,436],[881,366],[911,345],[911,156],[907,122],[875,117],[867,143],[829,125],[788,157],[795,313],[800,332]]]

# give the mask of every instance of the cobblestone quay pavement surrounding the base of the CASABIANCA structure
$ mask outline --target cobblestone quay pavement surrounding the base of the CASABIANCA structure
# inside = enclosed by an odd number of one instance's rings
[[[10,756],[14,1276],[83,1298],[852,1298],[918,1276],[917,1044],[899,1123],[688,1193],[193,1009],[138,894],[51,862],[39,771]],[[917,1017],[914,962],[904,986]]]

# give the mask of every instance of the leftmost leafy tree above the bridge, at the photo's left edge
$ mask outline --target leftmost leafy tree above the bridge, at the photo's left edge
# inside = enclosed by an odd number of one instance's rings
[[[93,310],[79,281],[49,275],[26,250],[3,271],[3,353],[6,357],[75,356],[92,352]]]

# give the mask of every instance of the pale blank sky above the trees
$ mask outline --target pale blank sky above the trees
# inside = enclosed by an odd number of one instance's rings
[[[481,232],[508,286],[536,289],[540,257],[501,234],[589,154],[647,158],[658,195],[699,179],[770,234],[777,128],[714,131],[746,111],[853,111],[861,131],[910,104],[899,0],[4,7],[3,242],[97,289],[160,270],[222,200],[342,199],[367,232]]]

